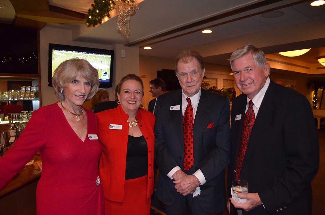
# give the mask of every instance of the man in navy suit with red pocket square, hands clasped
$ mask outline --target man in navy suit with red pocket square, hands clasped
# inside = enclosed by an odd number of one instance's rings
[[[168,215],[222,214],[230,160],[229,101],[201,89],[203,60],[184,51],[175,60],[182,89],[160,95],[155,116],[156,195]]]

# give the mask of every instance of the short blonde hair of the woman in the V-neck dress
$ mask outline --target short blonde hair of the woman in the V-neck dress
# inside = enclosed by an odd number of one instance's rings
[[[88,101],[96,94],[99,87],[98,71],[88,61],[73,58],[60,63],[54,71],[52,86],[59,101],[65,99],[63,93],[65,84],[75,80],[78,74],[90,83],[90,92],[85,101]]]

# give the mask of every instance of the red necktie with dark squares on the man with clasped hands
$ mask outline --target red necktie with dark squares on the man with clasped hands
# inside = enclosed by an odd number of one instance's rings
[[[187,98],[187,107],[184,112],[183,129],[184,129],[184,169],[188,171],[194,164],[193,160],[193,107],[191,99]]]

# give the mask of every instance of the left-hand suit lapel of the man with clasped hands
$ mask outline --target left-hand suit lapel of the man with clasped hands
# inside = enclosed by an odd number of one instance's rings
[[[170,110],[171,106],[179,105],[179,110]],[[182,89],[178,90],[175,95],[170,99],[168,105],[170,117],[173,122],[175,132],[177,134],[178,140],[184,146],[184,132],[183,132],[183,116],[182,116]]]

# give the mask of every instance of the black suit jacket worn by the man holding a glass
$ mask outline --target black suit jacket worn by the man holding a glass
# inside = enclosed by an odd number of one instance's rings
[[[235,180],[236,162],[247,97],[232,102],[232,162],[228,168],[228,191]],[[236,116],[241,114],[241,119]],[[243,214],[311,214],[311,180],[318,170],[318,133],[311,106],[305,96],[270,82],[256,116],[241,179],[249,193],[258,193],[265,206]],[[231,214],[235,213],[234,208]]]

